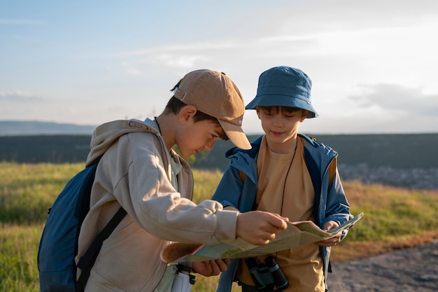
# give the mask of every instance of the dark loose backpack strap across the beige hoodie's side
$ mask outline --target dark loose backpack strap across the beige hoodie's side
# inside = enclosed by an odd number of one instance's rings
[[[76,292],[83,291],[83,288],[85,287],[85,284],[87,284],[87,280],[90,277],[91,268],[97,259],[97,255],[99,254],[102,243],[111,235],[111,232],[113,232],[113,230],[117,227],[120,221],[122,221],[126,214],[127,213],[125,209],[120,207],[120,209],[118,209],[113,218],[111,218],[108,224],[106,224],[104,229],[101,230],[99,235],[94,238],[92,244],[84,253],[84,255],[80,257],[77,267],[82,270],[82,273],[80,274],[79,279],[76,282]]]

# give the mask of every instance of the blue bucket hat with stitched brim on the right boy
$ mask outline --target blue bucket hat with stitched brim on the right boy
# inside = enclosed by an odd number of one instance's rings
[[[311,103],[311,88],[312,81],[303,71],[274,67],[260,74],[257,95],[245,109],[255,109],[256,106],[296,107],[309,111],[306,118],[316,118],[318,113]]]

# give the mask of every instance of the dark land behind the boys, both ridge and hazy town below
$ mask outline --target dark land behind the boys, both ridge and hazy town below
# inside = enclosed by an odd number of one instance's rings
[[[85,162],[90,134],[0,135],[0,162]],[[254,141],[258,135],[250,135]],[[314,135],[339,153],[342,179],[438,190],[438,134]],[[188,159],[193,168],[227,167],[230,141],[216,142],[212,151]]]

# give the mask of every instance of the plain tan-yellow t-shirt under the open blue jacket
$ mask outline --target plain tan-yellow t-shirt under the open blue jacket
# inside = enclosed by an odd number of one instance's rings
[[[290,221],[313,220],[315,190],[304,161],[304,145],[297,139],[296,153],[279,154],[262,139],[257,158],[257,210],[288,217]],[[267,255],[268,256],[268,255]],[[257,258],[264,262],[267,256]],[[306,244],[274,254],[289,281],[285,292],[325,291],[323,258],[318,244]],[[245,260],[240,260],[236,278],[254,285]]]

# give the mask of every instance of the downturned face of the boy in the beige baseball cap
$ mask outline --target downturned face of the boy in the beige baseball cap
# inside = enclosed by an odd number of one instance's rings
[[[176,144],[183,157],[200,153],[205,149],[213,149],[213,144],[222,137],[226,137],[220,123],[212,120],[201,120],[194,122],[190,118],[187,123],[178,127]]]

